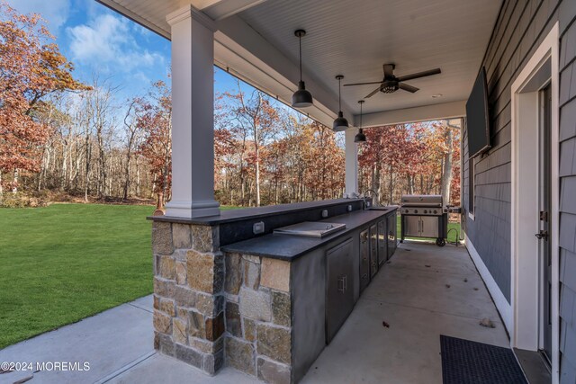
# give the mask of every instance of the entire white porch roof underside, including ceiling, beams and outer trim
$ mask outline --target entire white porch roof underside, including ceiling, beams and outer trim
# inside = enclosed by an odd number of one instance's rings
[[[301,112],[331,126],[338,82],[378,81],[384,63],[401,76],[440,67],[442,74],[411,80],[416,94],[375,94],[364,105],[366,127],[464,116],[501,0],[96,0],[170,39],[166,15],[192,4],[216,21],[214,64],[290,104],[303,79],[314,105]],[[342,89],[342,111],[357,121],[363,99],[377,85]],[[432,97],[441,94],[440,97]],[[350,119],[352,118],[352,119]]]

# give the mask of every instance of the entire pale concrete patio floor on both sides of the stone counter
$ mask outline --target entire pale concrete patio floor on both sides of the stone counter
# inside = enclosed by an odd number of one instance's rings
[[[0,362],[89,362],[89,371],[40,371],[34,383],[259,381],[226,368],[214,377],[155,353],[152,299],[137,299],[0,351]],[[488,317],[496,326],[480,326]],[[383,326],[383,323],[389,326]],[[440,335],[508,346],[464,246],[405,242],[384,264],[302,383],[441,383]],[[0,374],[14,383],[31,372]]]

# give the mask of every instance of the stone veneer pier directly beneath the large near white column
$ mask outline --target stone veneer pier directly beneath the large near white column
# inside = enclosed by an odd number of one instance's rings
[[[152,225],[154,348],[214,374],[224,366],[224,256],[218,227]]]

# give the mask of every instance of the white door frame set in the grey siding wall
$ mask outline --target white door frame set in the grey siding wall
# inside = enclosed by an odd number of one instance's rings
[[[554,24],[511,87],[511,307],[510,344],[536,351],[540,346],[540,261],[538,243],[539,91],[550,84],[552,247],[552,378],[559,381],[559,26]],[[521,131],[521,134],[520,134]]]

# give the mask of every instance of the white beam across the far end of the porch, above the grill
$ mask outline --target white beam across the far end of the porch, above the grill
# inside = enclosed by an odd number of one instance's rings
[[[417,121],[446,120],[464,117],[466,101],[424,105],[421,107],[401,110],[368,113],[362,116],[363,127],[382,127],[384,125],[403,124]],[[355,115],[354,121],[360,122],[360,116]]]

